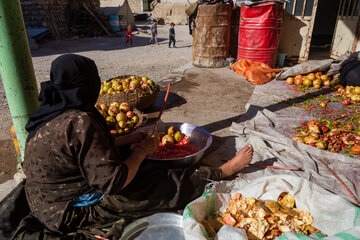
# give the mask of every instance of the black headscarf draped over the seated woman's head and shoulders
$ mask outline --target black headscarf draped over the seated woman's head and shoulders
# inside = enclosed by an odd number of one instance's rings
[[[100,77],[93,60],[66,54],[51,64],[50,81],[41,83],[40,106],[25,126],[29,141],[47,122],[69,109],[93,112],[98,121],[104,118],[94,107],[100,91]]]

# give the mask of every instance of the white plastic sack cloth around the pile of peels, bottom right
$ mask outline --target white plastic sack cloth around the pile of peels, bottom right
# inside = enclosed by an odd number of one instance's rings
[[[299,233],[286,233],[280,240],[322,239],[352,240],[360,238],[360,208],[345,199],[330,193],[304,178],[291,175],[266,176],[253,180],[223,181],[215,183],[202,197],[191,202],[184,211],[184,233],[186,240],[206,240],[209,234],[201,225],[206,216],[216,211],[224,212],[232,195],[241,193],[245,197],[261,200],[277,200],[282,192],[289,192],[295,198],[298,209],[310,212],[314,227],[327,234],[313,234],[311,237]],[[247,239],[244,230],[223,226],[215,239]]]

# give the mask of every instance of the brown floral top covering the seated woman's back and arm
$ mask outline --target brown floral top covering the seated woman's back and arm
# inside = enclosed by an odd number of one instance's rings
[[[88,192],[118,194],[128,169],[92,113],[68,110],[27,143],[24,171],[32,214],[56,232],[70,201]]]

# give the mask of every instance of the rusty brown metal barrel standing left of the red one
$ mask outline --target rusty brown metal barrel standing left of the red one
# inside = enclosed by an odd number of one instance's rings
[[[231,6],[200,5],[193,31],[192,55],[196,67],[224,67],[229,56]]]

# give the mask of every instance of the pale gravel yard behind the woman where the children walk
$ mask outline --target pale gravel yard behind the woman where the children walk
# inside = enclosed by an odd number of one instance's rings
[[[149,26],[141,25],[143,31]],[[158,26],[159,45],[149,45],[150,35],[134,31],[133,47],[125,45],[124,32],[120,37],[81,38],[41,43],[32,51],[38,82],[49,80],[51,62],[61,54],[76,53],[93,59],[102,80],[123,74],[145,75],[157,80],[172,70],[192,61],[188,26],[175,26],[177,48],[168,48],[169,26]],[[0,84],[0,140],[10,138],[11,117],[3,85]]]

